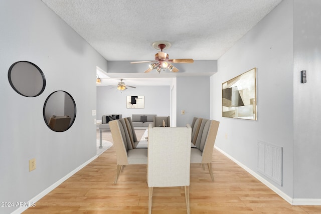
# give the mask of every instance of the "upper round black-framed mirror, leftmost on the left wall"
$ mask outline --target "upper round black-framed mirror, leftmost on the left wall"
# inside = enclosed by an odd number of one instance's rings
[[[37,97],[46,87],[46,79],[41,69],[28,61],[15,62],[10,66],[8,79],[11,87],[25,97]]]

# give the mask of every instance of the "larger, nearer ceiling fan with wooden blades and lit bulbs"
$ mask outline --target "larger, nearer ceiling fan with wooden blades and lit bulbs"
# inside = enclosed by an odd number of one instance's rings
[[[156,48],[153,44],[153,47]],[[161,50],[157,54],[155,54],[155,60],[154,61],[138,61],[138,62],[131,62],[131,64],[134,63],[148,63],[151,62],[149,65],[149,68],[145,71],[145,73],[150,72],[153,69],[156,69],[158,73],[161,73],[162,69],[168,69],[171,72],[178,72],[179,69],[174,67],[171,63],[193,63],[193,59],[169,59],[169,55],[165,52],[163,52],[163,49],[166,48],[166,44],[157,44],[157,48]]]

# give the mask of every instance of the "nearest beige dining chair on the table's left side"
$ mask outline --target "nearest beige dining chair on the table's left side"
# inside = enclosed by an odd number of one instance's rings
[[[114,183],[117,183],[123,165],[144,164],[147,165],[147,148],[135,148],[131,141],[126,118],[109,122],[110,132],[116,148],[117,171]]]

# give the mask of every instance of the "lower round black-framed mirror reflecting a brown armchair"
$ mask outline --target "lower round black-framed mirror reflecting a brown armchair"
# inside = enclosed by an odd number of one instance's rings
[[[65,91],[51,93],[45,101],[43,115],[51,130],[57,132],[68,130],[76,118],[74,98]]]

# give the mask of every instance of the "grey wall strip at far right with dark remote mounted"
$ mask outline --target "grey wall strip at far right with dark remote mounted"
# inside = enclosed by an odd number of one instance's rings
[[[321,198],[320,8],[318,0],[294,0],[294,198]]]

